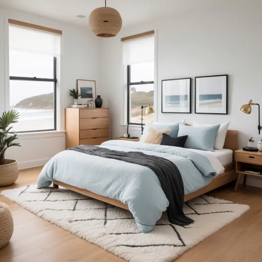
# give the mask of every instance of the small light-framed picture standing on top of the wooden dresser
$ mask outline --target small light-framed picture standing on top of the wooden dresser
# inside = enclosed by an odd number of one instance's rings
[[[77,90],[80,94],[79,104],[88,104],[96,98],[96,81],[77,79]]]

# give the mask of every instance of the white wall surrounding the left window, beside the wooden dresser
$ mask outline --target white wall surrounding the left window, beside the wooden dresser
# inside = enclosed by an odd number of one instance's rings
[[[13,10],[0,10],[0,114],[8,110],[8,19],[62,30],[61,74],[59,85],[60,130],[64,130],[64,108],[72,104],[69,89],[76,87],[76,79],[97,81],[99,89],[99,39],[88,28],[81,28],[48,18]],[[7,150],[7,158],[17,159],[19,168],[45,164],[52,156],[65,149],[65,133],[19,135],[21,147]]]

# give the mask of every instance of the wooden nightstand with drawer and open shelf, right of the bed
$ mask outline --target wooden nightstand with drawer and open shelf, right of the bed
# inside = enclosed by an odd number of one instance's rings
[[[244,151],[243,149],[235,151],[235,171],[236,173],[238,173],[238,177],[235,184],[235,191],[243,174],[243,185],[246,185],[247,176],[262,178],[261,174],[248,173],[245,172],[245,170],[262,171],[262,152],[250,152]]]

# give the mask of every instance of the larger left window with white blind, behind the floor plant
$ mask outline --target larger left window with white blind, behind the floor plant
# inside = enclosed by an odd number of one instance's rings
[[[10,108],[17,133],[56,130],[60,35],[9,25]]]

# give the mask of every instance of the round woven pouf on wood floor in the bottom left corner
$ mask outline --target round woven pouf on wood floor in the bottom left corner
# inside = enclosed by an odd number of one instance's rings
[[[14,222],[7,204],[0,203],[0,249],[10,241],[14,231]]]

